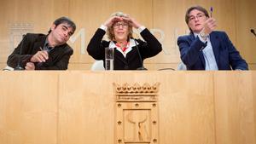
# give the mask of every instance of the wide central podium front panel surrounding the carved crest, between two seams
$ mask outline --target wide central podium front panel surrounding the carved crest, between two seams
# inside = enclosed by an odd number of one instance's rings
[[[61,73],[58,141],[113,143],[112,84],[160,82],[160,143],[214,143],[211,73],[158,73]]]

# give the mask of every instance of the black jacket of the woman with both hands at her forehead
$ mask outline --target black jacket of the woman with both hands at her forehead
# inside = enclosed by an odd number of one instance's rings
[[[102,41],[102,37],[105,35],[105,31],[97,29],[95,35],[90,39],[87,51],[90,56],[96,60],[103,60],[105,66],[105,48],[109,46],[109,41]],[[148,31],[148,29],[141,32],[143,39],[136,39],[137,48],[139,49],[142,60],[157,55],[162,50],[159,41]],[[114,50],[114,70],[136,70],[142,66],[142,60],[138,55],[136,47],[132,47],[131,51],[127,53],[126,57],[122,55],[117,49]]]

